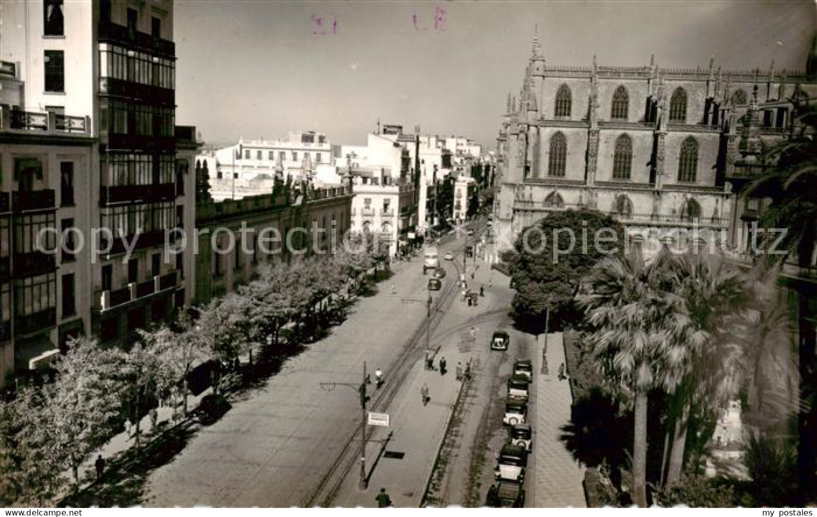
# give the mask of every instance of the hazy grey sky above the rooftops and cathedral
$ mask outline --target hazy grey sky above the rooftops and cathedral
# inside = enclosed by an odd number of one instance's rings
[[[534,38],[547,64],[803,70],[814,0],[176,0],[176,123],[209,144],[377,121],[496,147]]]

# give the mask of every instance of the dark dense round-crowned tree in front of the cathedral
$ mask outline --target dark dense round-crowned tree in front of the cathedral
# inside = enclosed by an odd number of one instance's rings
[[[600,245],[595,245],[596,235]],[[587,245],[583,246],[583,238]],[[611,238],[615,242],[601,241]],[[506,256],[517,285],[513,299],[517,322],[539,334],[548,307],[556,313],[569,312],[582,279],[601,258],[622,254],[623,244],[621,224],[595,210],[554,212],[523,229],[514,244],[515,253]],[[556,254],[557,250],[569,252]]]

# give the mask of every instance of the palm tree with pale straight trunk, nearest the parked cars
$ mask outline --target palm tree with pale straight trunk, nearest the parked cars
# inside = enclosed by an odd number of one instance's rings
[[[633,500],[646,506],[647,395],[662,384],[659,365],[669,338],[667,315],[677,299],[659,289],[662,272],[641,254],[605,258],[589,278],[587,307],[592,360],[605,378],[634,399]]]

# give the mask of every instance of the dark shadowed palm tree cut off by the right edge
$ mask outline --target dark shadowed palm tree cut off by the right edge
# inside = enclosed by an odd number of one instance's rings
[[[817,108],[794,104],[795,122],[799,131],[767,153],[767,161],[775,163],[770,172],[748,184],[747,195],[770,199],[761,217],[766,228],[786,228],[779,248],[784,254],[767,254],[769,263],[797,256],[801,268],[811,266],[817,242]],[[801,411],[798,415],[799,445],[797,471],[802,494],[817,493],[817,400],[815,400],[815,331],[813,294],[806,282],[798,281],[797,334],[800,373]]]

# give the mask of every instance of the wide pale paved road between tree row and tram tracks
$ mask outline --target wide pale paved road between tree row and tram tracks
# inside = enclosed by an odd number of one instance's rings
[[[172,462],[150,475],[147,506],[301,505],[359,424],[356,391],[324,391],[320,382],[359,384],[363,362],[388,371],[426,309],[419,259],[380,293],[361,298],[328,338],[289,360],[257,391],[205,427]],[[391,284],[397,294],[391,294]]]

